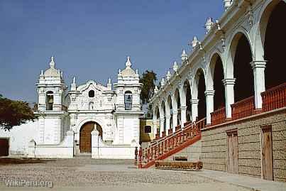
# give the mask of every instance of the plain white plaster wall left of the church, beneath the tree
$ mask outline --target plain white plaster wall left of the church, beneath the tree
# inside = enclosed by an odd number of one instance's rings
[[[9,138],[9,154],[28,155],[28,143],[32,139],[38,142],[38,121],[14,126],[11,131],[0,129],[0,138]]]

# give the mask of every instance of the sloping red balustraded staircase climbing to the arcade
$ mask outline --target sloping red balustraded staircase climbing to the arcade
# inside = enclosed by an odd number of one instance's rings
[[[149,148],[140,148],[138,168],[149,168],[155,165],[156,160],[164,160],[196,143],[201,139],[201,129],[205,124],[206,118],[194,123],[185,123],[183,129],[177,129],[168,136],[158,138]]]

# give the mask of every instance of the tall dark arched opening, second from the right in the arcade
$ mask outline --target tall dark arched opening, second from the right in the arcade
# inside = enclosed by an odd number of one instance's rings
[[[236,45],[234,45],[236,43]],[[232,43],[233,76],[236,78],[234,84],[234,102],[241,101],[254,95],[253,70],[251,68],[252,54],[248,39],[242,33],[233,38]]]

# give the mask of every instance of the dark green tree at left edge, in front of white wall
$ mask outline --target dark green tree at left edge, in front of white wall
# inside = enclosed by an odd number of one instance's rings
[[[0,94],[0,126],[1,129],[11,130],[13,126],[25,124],[35,119],[33,110],[27,102],[14,101]]]

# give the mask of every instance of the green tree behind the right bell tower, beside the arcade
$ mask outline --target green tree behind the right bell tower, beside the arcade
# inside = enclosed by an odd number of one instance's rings
[[[155,81],[157,80],[155,72],[153,70],[146,70],[140,77],[140,82],[143,83],[141,89],[140,98],[145,103],[148,102],[153,94],[153,89],[155,88]]]

